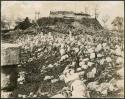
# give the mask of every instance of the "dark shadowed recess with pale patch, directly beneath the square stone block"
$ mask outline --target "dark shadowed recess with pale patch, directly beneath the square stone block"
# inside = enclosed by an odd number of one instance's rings
[[[13,90],[17,85],[17,67],[1,67],[1,89]]]

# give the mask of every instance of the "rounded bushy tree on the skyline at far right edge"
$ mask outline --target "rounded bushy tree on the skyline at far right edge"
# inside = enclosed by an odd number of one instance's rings
[[[123,30],[123,17],[117,16],[111,24],[115,27],[115,30],[119,32],[122,31]]]

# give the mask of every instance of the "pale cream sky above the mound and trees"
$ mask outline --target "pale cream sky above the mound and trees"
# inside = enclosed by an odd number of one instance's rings
[[[110,16],[108,25],[116,16],[124,17],[124,1],[1,1],[1,15],[10,19],[29,17],[34,19],[35,11],[40,12],[40,16],[48,16],[50,11],[75,11],[84,12],[88,7],[90,13],[94,13],[94,8],[98,5],[100,13],[98,20],[105,15]]]

